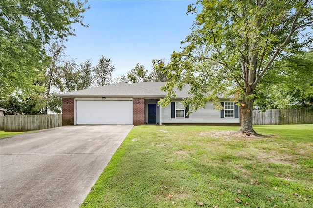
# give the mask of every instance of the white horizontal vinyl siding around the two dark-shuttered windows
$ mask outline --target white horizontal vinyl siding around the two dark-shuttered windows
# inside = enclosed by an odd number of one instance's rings
[[[188,119],[178,119],[171,118],[171,105],[168,105],[162,108],[162,123],[239,123],[239,118],[221,118],[221,111],[214,107],[212,102],[208,102],[206,108],[192,112]]]

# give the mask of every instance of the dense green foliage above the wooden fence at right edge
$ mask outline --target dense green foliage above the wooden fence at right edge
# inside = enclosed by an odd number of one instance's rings
[[[313,108],[313,51],[283,57],[258,86],[259,109]],[[266,86],[266,87],[265,87]]]

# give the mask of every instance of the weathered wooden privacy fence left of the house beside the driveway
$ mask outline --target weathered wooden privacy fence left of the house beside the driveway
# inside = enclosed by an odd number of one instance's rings
[[[62,114],[1,116],[1,130],[32,131],[62,126]]]

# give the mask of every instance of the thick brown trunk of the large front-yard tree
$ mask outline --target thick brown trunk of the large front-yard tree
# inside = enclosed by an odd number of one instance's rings
[[[244,100],[240,105],[240,120],[241,120],[241,128],[239,130],[240,133],[250,135],[257,135],[257,133],[253,130],[253,103],[254,99],[247,99],[246,96],[252,95],[252,90],[247,90],[244,96]]]

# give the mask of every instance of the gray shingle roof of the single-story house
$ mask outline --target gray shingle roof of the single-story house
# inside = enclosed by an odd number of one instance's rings
[[[142,82],[142,83],[117,83],[95,88],[83,89],[73,92],[67,92],[58,95],[59,97],[164,97],[166,92],[161,91],[162,82]],[[186,85],[182,91],[177,91],[177,97],[186,97],[189,85]]]

